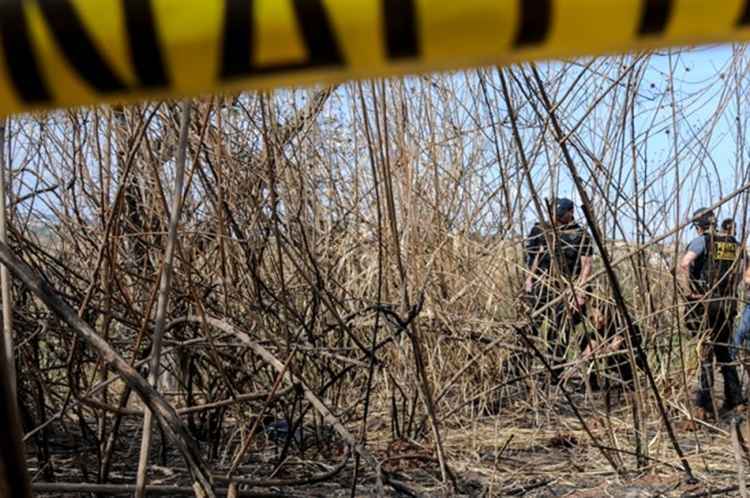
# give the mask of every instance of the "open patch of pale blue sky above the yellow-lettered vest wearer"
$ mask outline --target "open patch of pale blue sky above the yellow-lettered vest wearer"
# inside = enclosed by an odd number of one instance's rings
[[[672,192],[678,176],[681,221],[695,209],[717,202],[750,181],[750,151],[744,144],[749,124],[745,111],[748,64],[747,58],[742,57],[732,66],[735,50],[744,48],[720,45],[674,50],[671,55],[665,50],[651,56],[640,85],[635,120],[638,174],[643,176],[641,184],[653,182],[647,216],[671,220],[671,226],[675,225],[678,199]],[[674,75],[674,93],[670,91],[670,73]],[[606,112],[606,106],[602,107]],[[597,143],[596,130],[582,135],[588,137],[584,141],[588,140],[592,150],[600,150],[602,144]],[[604,159],[606,163],[608,158]],[[630,175],[632,171],[625,172],[625,183],[630,181]],[[560,191],[578,200],[569,180],[561,181]],[[735,217],[742,229],[746,211],[743,202],[745,197],[736,198],[717,213],[718,217]],[[623,218],[620,221],[632,229],[626,214]],[[655,231],[668,228],[665,224]],[[681,238],[693,235],[686,230]]]

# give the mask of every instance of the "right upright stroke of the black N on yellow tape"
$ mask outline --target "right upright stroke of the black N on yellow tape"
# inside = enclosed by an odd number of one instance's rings
[[[122,0],[130,57],[144,88],[168,85],[151,0]]]

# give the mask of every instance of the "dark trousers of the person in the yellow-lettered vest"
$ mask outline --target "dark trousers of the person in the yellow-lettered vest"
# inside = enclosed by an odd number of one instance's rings
[[[707,333],[707,341],[701,348],[701,369],[695,404],[703,409],[713,408],[714,367],[719,365],[724,377],[724,406],[740,404],[743,400],[742,387],[737,369],[732,364],[732,333],[737,308],[733,300],[709,303],[689,303],[688,325],[694,332]]]

